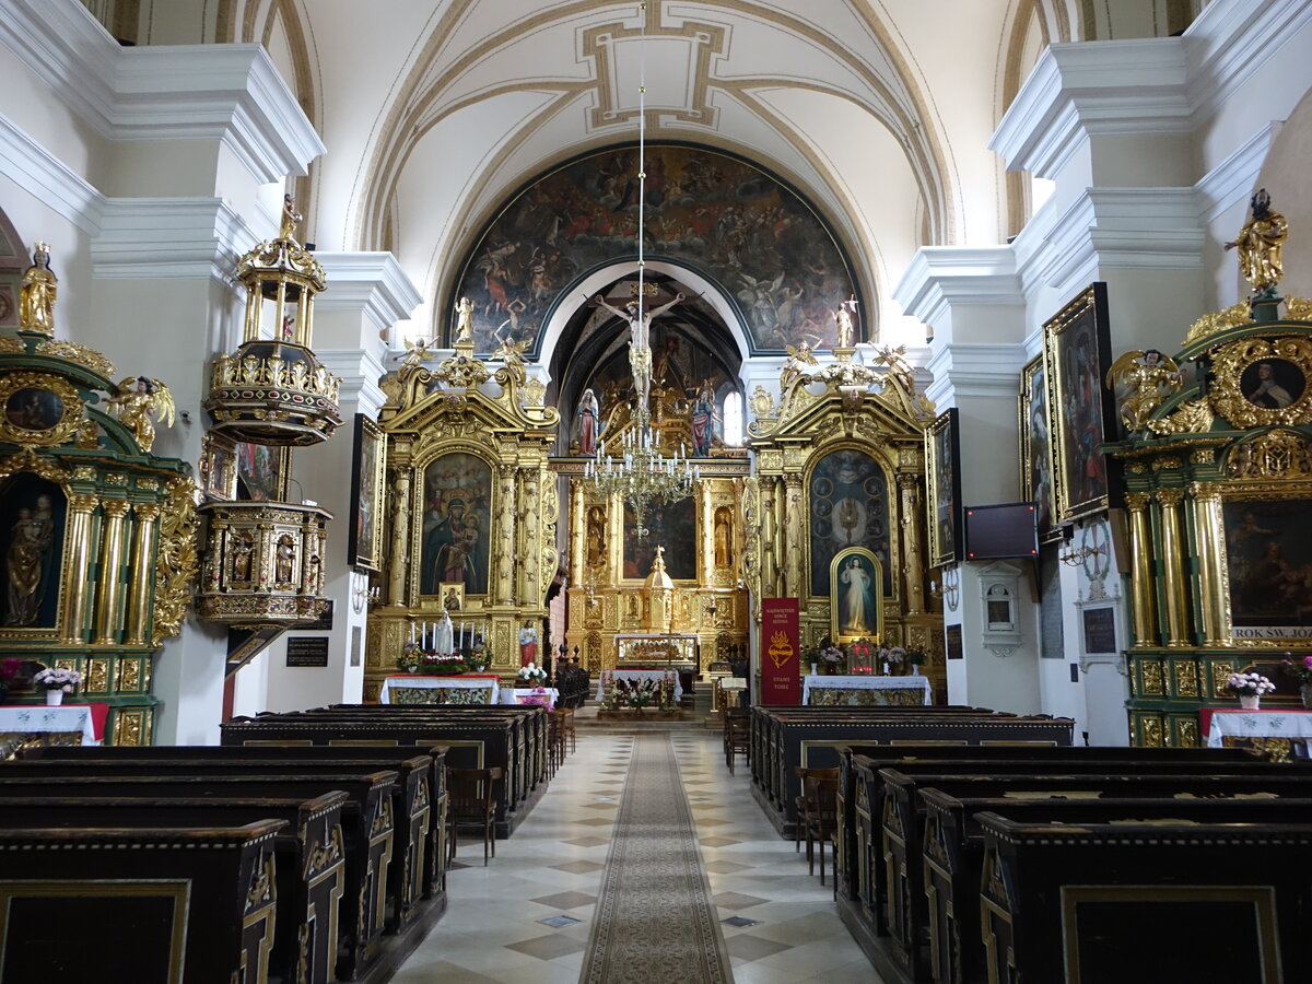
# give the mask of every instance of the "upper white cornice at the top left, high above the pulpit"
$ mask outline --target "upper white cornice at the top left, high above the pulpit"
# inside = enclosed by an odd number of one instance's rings
[[[261,184],[327,148],[260,45],[125,49],[76,3],[5,0],[0,45],[110,140],[215,139]]]

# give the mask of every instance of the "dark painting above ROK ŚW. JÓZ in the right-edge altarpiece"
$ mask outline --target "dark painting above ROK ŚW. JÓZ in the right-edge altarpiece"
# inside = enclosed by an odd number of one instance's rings
[[[1312,508],[1303,500],[1223,506],[1231,625],[1312,625]]]

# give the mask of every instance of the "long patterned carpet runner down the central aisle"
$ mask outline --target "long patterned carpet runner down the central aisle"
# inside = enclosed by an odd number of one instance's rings
[[[666,735],[638,735],[580,984],[732,984]]]

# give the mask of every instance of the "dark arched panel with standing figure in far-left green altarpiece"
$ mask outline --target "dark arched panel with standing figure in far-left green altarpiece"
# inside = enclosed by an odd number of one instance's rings
[[[52,482],[26,472],[0,495],[0,554],[4,555],[7,628],[56,628],[67,500]]]

